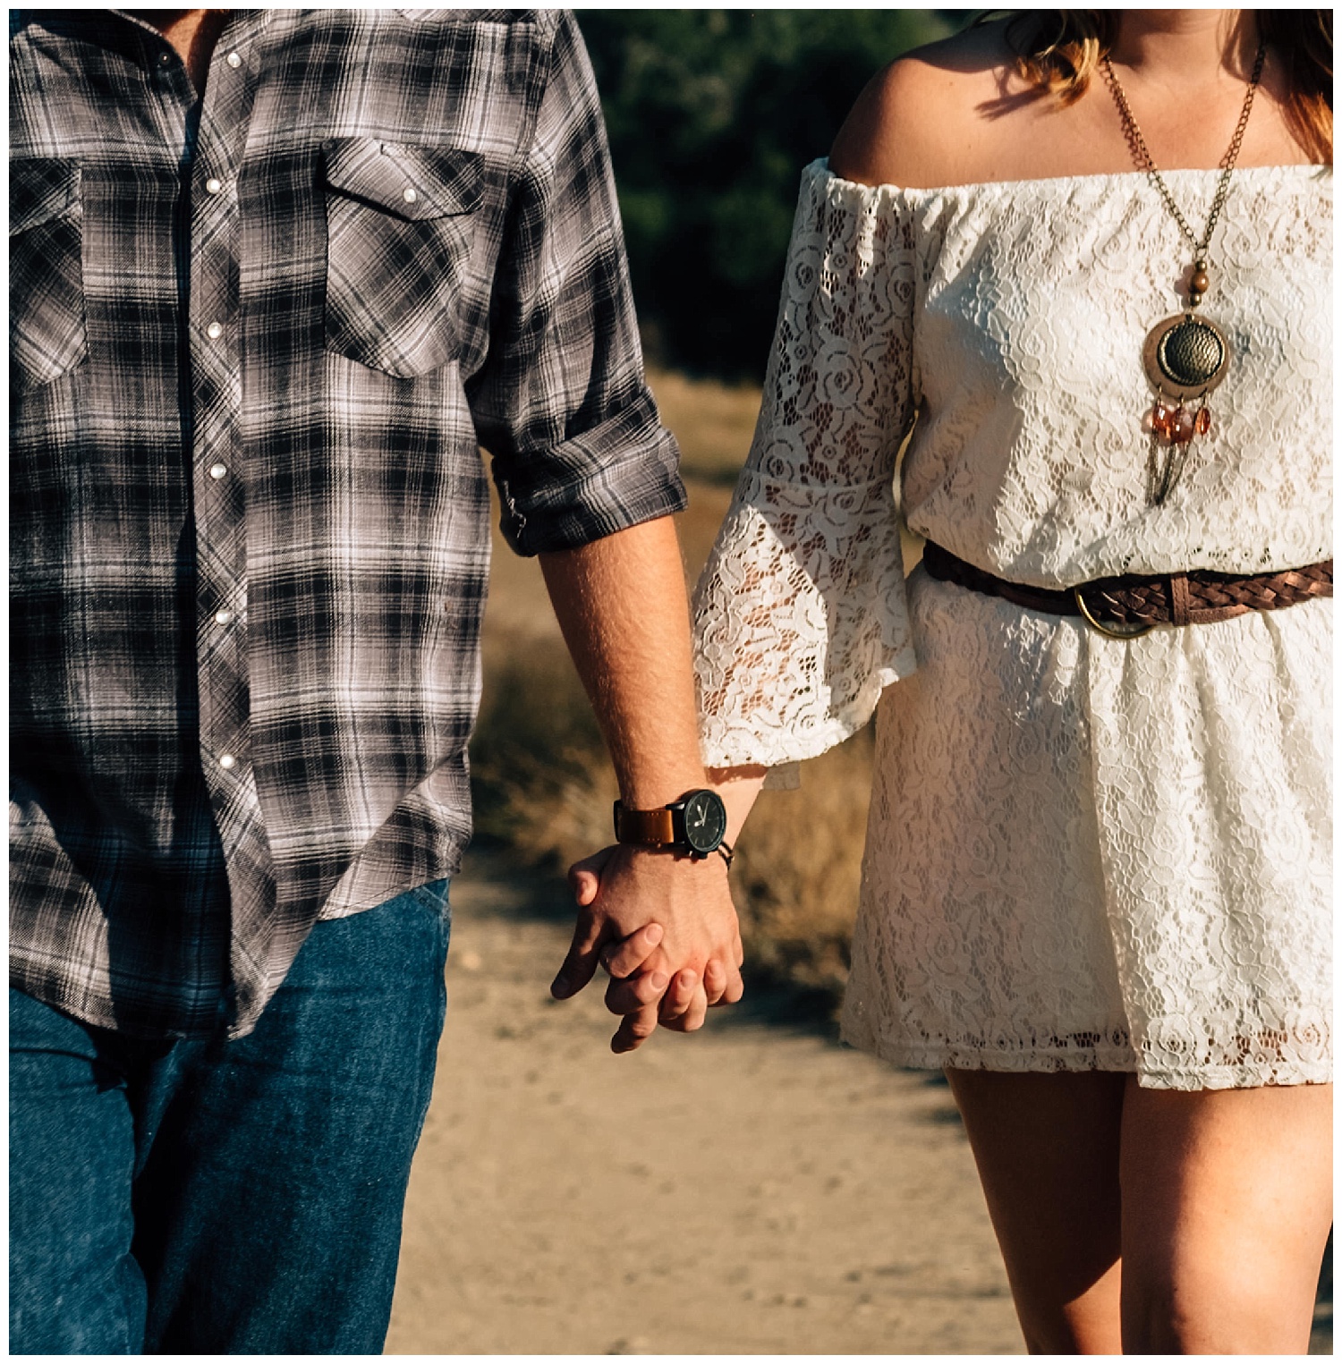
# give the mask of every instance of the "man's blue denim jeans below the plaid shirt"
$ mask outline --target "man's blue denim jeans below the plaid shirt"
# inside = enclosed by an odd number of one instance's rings
[[[449,928],[446,881],[318,923],[233,1042],[11,989],[11,1352],[379,1353]]]

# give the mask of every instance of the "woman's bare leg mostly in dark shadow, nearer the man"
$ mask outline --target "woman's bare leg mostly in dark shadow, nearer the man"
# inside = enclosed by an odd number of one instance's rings
[[[946,1071],[1032,1354],[1120,1352],[1127,1078]]]

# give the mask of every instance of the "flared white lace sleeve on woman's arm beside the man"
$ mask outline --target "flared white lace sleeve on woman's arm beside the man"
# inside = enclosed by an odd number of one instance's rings
[[[709,767],[814,757],[915,666],[893,501],[912,299],[897,192],[809,166],[754,442],[694,592]]]

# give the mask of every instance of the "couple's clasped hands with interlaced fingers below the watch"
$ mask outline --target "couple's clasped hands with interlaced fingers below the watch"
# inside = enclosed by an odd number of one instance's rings
[[[659,1023],[693,1033],[709,1005],[741,998],[741,930],[720,857],[616,843],[576,862],[569,884],[578,921],[550,993],[569,998],[604,966],[606,1007],[622,1015],[612,1052],[633,1052]]]

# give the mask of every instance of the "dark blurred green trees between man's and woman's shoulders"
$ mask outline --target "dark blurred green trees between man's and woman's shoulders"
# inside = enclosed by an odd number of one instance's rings
[[[972,11],[577,12],[649,357],[760,381],[802,168],[881,67]]]

